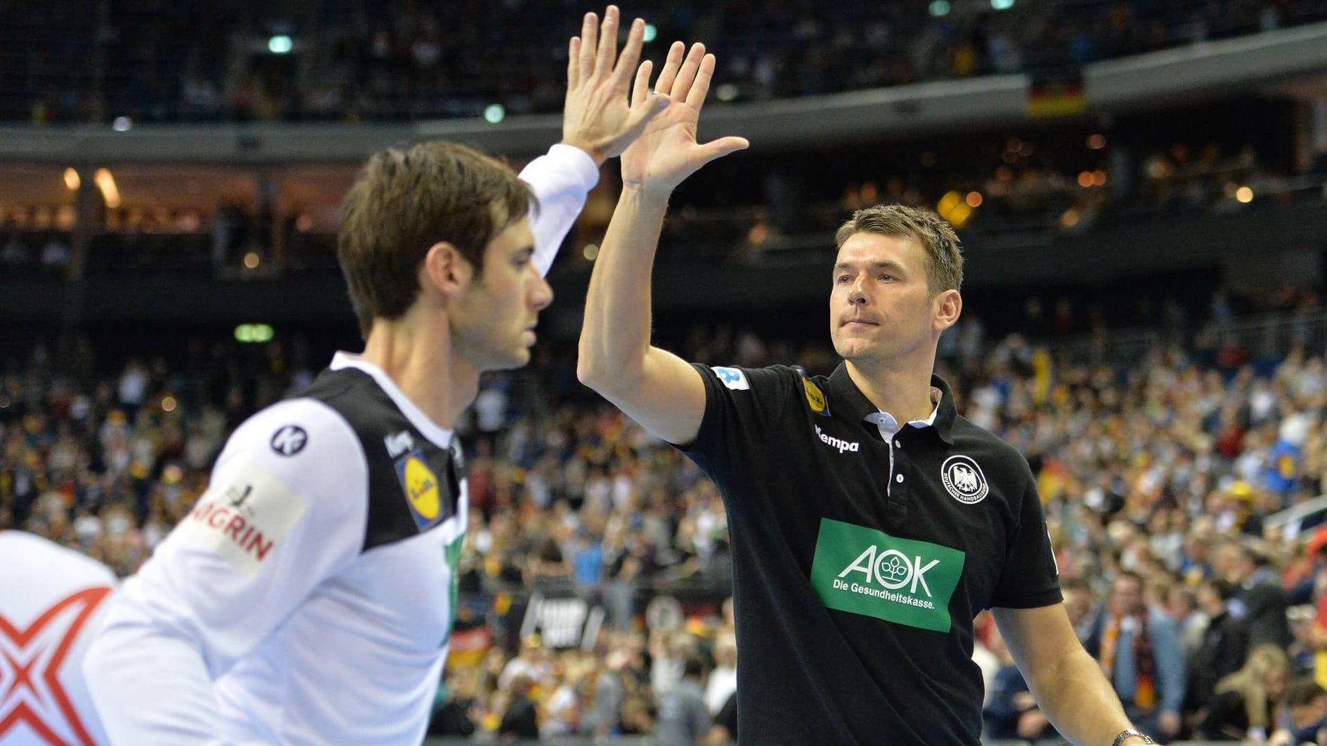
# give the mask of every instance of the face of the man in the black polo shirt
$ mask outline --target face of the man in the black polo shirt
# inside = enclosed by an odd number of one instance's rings
[[[859,232],[839,248],[829,336],[844,360],[888,364],[928,349],[934,356],[961,308],[958,291],[930,293],[917,239]]]

